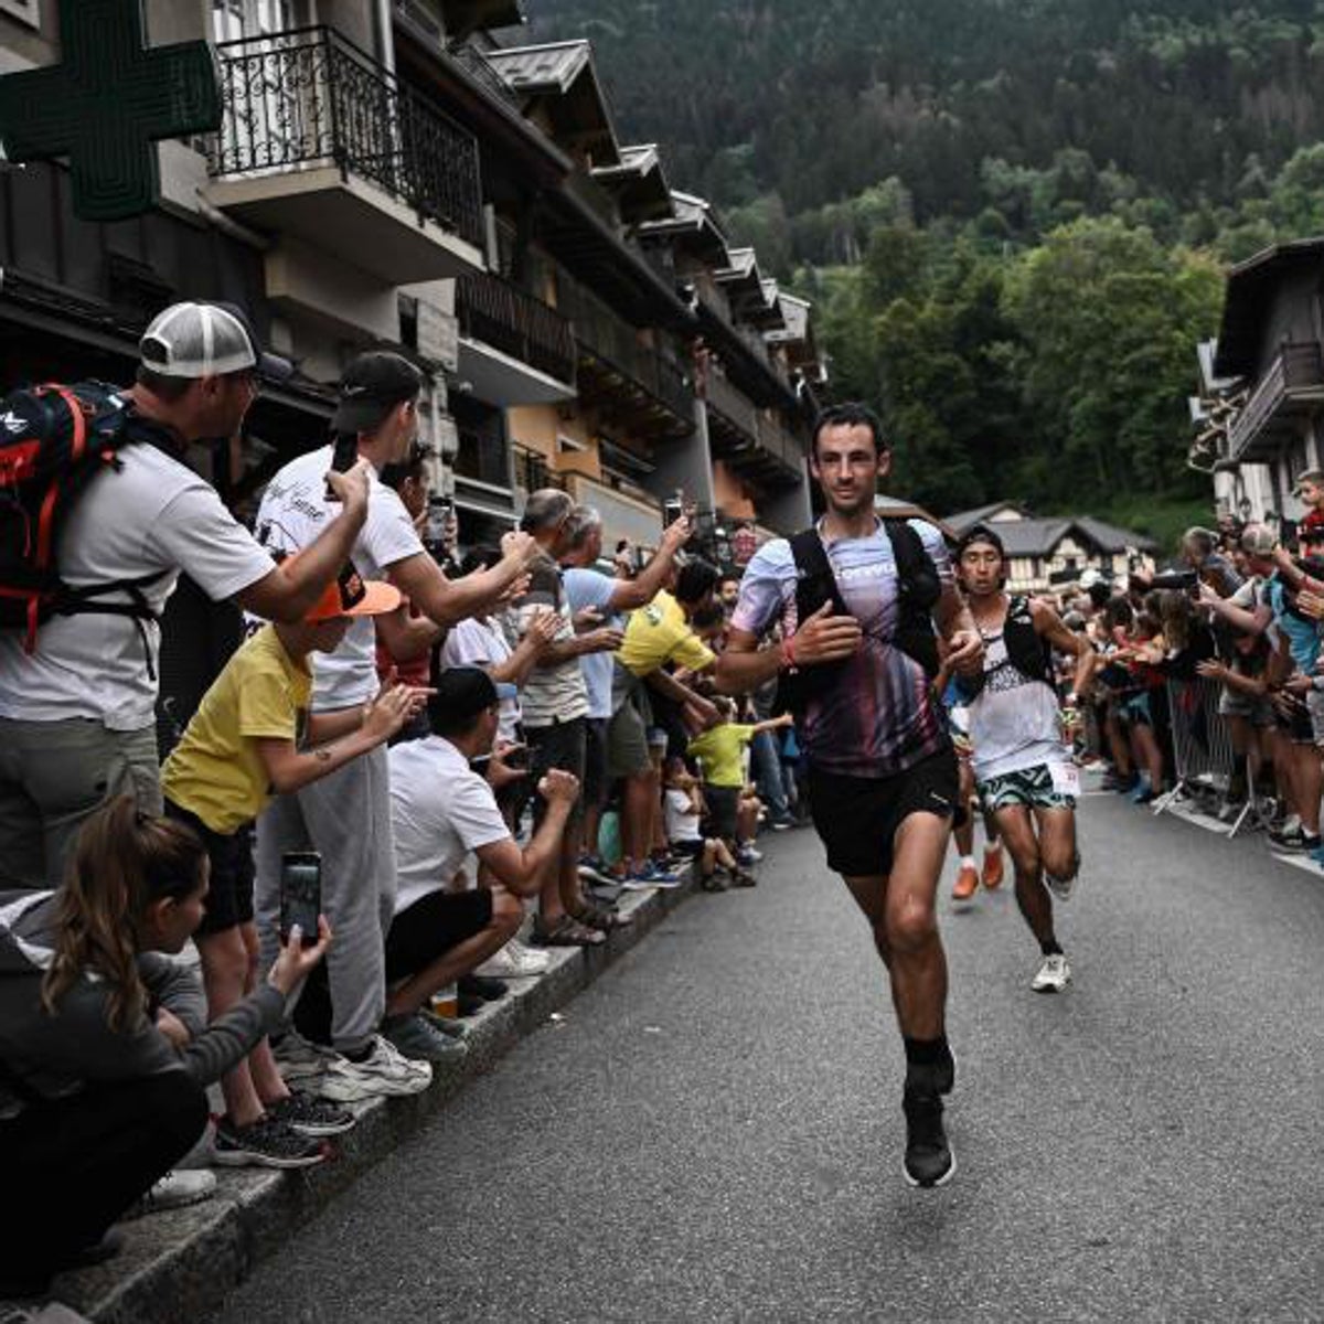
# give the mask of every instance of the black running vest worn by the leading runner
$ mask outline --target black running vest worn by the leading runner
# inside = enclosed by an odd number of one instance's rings
[[[880,523],[896,561],[898,602],[892,642],[924,667],[927,675],[935,677],[939,659],[932,613],[943,596],[937,567],[907,520],[883,519]],[[796,561],[797,629],[825,602],[831,602],[835,614],[850,616],[818,530],[801,530],[788,542]],[[845,666],[845,662],[825,662],[782,675],[777,683],[777,707],[792,712],[804,711],[812,698],[837,683]]]

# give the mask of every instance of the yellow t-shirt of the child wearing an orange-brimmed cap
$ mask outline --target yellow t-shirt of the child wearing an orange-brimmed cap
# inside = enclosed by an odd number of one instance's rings
[[[294,662],[263,625],[225,665],[162,768],[167,800],[229,834],[271,798],[256,740],[297,740],[312,695],[312,673]]]

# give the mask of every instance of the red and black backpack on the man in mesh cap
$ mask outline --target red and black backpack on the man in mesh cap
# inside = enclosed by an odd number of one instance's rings
[[[103,381],[24,387],[0,400],[0,629],[21,629],[29,653],[52,616],[127,616],[139,630],[156,620],[143,589],[160,573],[71,588],[57,564],[61,531],[87,483],[119,469],[119,451],[142,441],[171,449]],[[110,593],[120,601],[101,601]]]

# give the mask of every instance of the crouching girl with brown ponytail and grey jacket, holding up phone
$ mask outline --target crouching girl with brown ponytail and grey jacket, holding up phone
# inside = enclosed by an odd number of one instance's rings
[[[324,919],[312,947],[291,932],[266,981],[207,1025],[197,981],[160,955],[188,941],[207,892],[197,835],[120,796],[85,825],[58,892],[0,894],[0,1168],[15,1215],[0,1298],[114,1254],[110,1225],[201,1139],[205,1087],[279,1023],[326,953]]]

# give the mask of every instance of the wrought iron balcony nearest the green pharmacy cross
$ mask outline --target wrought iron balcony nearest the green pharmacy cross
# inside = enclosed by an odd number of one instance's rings
[[[481,266],[478,143],[425,97],[326,26],[226,41],[217,56],[225,114],[209,168],[218,205],[323,248],[340,222],[354,245],[344,256],[399,283]],[[335,176],[352,200],[395,208],[397,224],[410,218],[463,241],[463,261],[429,262],[408,236],[392,242],[361,214],[350,225],[344,199],[328,199]],[[346,216],[328,213],[327,201]]]

